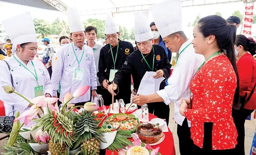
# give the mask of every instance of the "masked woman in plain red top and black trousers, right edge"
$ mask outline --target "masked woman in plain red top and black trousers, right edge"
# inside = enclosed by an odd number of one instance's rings
[[[234,45],[237,57],[237,71],[239,74],[240,104],[239,110],[233,109],[232,116],[237,129],[237,154],[244,155],[244,123],[245,119],[256,108],[256,94],[252,91],[256,84],[256,62],[253,55],[256,54],[256,43],[253,38],[237,35]],[[251,94],[251,95],[250,95]]]

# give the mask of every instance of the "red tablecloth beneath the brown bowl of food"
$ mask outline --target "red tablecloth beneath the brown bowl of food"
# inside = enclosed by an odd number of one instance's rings
[[[150,113],[149,120],[151,120],[153,118],[157,118],[157,116]],[[173,134],[170,131],[170,129],[169,129],[169,132],[164,132],[164,133],[165,133],[164,141],[161,142],[160,144],[152,146],[152,148],[157,148],[158,146],[160,146],[159,152],[162,155],[175,155],[176,153],[175,153],[175,147],[174,147]],[[106,155],[111,155],[111,153],[112,152],[109,150],[106,151]],[[117,155],[118,153],[114,152],[114,154]]]

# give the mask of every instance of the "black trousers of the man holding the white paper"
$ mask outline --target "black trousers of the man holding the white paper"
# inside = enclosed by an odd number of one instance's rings
[[[169,124],[170,107],[164,102],[148,103],[149,112],[153,113],[159,118],[166,119]]]

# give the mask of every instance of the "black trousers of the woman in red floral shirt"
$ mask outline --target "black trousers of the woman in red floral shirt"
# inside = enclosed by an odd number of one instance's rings
[[[203,148],[194,144],[194,155],[233,155],[237,154],[234,149],[212,150],[212,122],[204,123]],[[240,154],[237,154],[240,155]]]

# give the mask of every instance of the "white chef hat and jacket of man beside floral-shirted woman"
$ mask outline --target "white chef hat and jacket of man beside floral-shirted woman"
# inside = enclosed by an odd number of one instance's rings
[[[155,4],[150,7],[150,11],[162,37],[182,30],[182,6],[180,0],[169,0]],[[191,43],[191,40],[187,40],[179,49],[180,55],[175,69],[168,79],[169,85],[157,92],[166,104],[170,104],[172,101],[175,102],[174,119],[179,125],[182,125],[185,119],[179,112],[181,97],[189,98],[189,83],[197,68],[204,61],[204,57],[196,54],[193,45],[188,45],[189,43]],[[187,48],[183,50],[186,46]],[[190,127],[189,120],[188,125]]]

